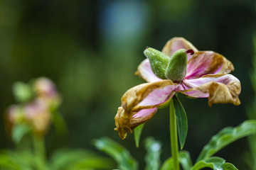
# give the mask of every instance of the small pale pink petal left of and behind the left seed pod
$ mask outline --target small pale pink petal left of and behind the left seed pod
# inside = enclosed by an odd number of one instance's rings
[[[147,82],[161,81],[161,79],[156,77],[152,72],[148,59],[143,60],[141,64],[139,64],[138,71],[135,74],[139,75],[139,77],[142,77],[142,79]]]

